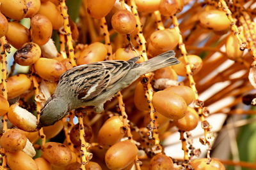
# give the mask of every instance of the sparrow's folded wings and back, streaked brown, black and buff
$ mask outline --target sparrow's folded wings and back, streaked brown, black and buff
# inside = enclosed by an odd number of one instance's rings
[[[107,60],[77,66],[61,76],[58,86],[68,82],[78,99],[88,101],[111,89],[133,65],[130,60]]]

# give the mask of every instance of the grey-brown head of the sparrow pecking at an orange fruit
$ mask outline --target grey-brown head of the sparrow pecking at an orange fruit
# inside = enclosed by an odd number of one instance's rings
[[[50,97],[42,108],[37,128],[53,125],[67,115],[68,104],[61,97]]]

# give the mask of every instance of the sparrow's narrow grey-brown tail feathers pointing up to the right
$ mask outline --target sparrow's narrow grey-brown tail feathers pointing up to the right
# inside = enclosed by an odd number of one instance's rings
[[[163,67],[172,66],[175,64],[179,64],[179,60],[175,58],[175,52],[170,50],[168,52],[161,53],[152,59],[149,59],[145,62],[142,62],[140,65],[143,66],[143,74],[149,73],[151,71],[155,71],[157,69],[161,69]],[[142,70],[141,70],[142,71]]]

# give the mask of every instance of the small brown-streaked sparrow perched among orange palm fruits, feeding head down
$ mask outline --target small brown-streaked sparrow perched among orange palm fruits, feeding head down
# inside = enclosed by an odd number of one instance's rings
[[[68,111],[84,106],[94,106],[95,112],[104,110],[104,103],[120,90],[129,86],[141,75],[163,67],[179,64],[175,52],[170,50],[152,59],[136,63],[130,60],[104,60],[73,67],[60,76],[60,80],[45,102],[38,122],[38,129],[53,125]]]

